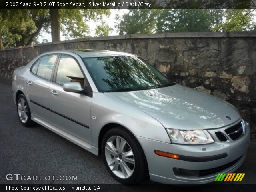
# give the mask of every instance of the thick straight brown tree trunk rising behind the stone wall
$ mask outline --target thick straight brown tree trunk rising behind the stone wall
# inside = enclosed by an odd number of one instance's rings
[[[50,9],[52,42],[60,41],[60,17],[58,9]]]

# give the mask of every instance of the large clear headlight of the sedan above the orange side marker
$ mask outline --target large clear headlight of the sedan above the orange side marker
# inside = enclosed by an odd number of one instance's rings
[[[194,145],[214,142],[212,136],[206,130],[175,130],[166,128],[166,131],[173,143]]]

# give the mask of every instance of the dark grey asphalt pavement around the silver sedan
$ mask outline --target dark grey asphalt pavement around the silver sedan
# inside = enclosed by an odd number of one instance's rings
[[[246,161],[236,173],[246,173],[243,183],[256,183],[255,168],[256,141],[252,141]],[[6,180],[6,174],[20,174],[25,178],[77,176],[77,180],[16,181]],[[87,152],[38,124],[31,128],[22,126],[12,100],[11,81],[0,78],[0,183],[118,182],[108,174],[101,156]]]

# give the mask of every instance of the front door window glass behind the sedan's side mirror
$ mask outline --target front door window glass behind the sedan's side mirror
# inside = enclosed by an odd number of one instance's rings
[[[84,75],[76,60],[70,56],[62,55],[57,70],[56,83],[63,85],[68,82],[79,82],[84,87]]]

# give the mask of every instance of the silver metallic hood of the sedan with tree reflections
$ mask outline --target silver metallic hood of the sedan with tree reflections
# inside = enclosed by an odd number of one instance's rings
[[[240,118],[236,108],[228,102],[179,84],[150,90],[104,94],[142,110],[165,128],[219,128]]]

